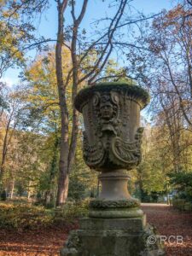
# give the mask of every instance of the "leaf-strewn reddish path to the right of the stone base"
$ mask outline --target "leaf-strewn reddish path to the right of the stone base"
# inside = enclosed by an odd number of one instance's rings
[[[148,223],[166,239],[166,256],[192,256],[192,212],[178,212],[166,204],[142,204],[142,208]]]

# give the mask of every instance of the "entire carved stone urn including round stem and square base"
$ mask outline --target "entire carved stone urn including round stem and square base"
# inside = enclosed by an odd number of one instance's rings
[[[74,106],[84,117],[84,161],[99,172],[102,191],[90,201],[79,230],[70,232],[61,256],[165,255],[127,189],[128,171],[142,160],[140,111],[148,101],[146,90],[126,83],[96,84],[76,96]]]

